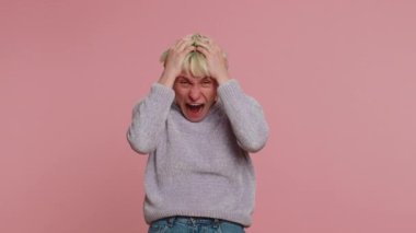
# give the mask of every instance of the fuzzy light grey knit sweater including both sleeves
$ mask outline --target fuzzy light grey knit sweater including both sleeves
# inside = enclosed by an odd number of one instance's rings
[[[132,110],[127,139],[149,154],[145,172],[147,223],[172,215],[252,223],[255,175],[249,152],[261,150],[268,126],[261,105],[236,80],[199,123],[188,121],[172,89],[154,83]]]

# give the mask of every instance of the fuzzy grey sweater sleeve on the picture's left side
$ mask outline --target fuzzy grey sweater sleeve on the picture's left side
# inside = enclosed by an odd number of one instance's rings
[[[140,154],[152,152],[163,130],[175,93],[160,83],[151,86],[149,95],[135,105],[127,140]]]

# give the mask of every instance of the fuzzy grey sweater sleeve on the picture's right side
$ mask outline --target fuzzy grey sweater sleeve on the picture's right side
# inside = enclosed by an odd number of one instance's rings
[[[259,151],[266,144],[269,132],[262,106],[244,94],[236,80],[221,84],[218,95],[240,147],[249,152]]]

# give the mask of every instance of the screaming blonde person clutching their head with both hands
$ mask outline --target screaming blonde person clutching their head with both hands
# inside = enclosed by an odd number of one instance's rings
[[[262,107],[206,36],[185,36],[161,61],[162,75],[134,107],[127,132],[131,148],[149,154],[149,232],[244,232],[255,198],[249,152],[268,138]]]

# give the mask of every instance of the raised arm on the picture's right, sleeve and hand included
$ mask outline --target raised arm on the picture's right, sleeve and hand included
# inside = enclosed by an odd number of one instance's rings
[[[268,126],[262,106],[246,96],[235,80],[229,78],[227,58],[217,43],[208,39],[196,50],[206,56],[210,77],[219,84],[218,96],[240,147],[249,152],[259,151],[268,138]]]

